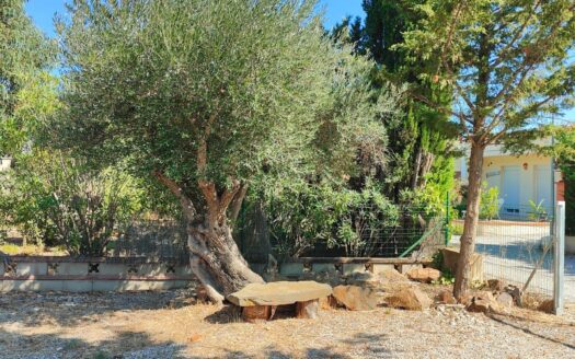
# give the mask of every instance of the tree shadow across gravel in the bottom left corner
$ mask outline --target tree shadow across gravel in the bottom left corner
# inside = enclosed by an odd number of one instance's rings
[[[139,332],[120,332],[114,339],[88,343],[55,334],[23,334],[0,329],[0,352],[5,359],[129,359],[186,358],[185,346],[156,341]]]

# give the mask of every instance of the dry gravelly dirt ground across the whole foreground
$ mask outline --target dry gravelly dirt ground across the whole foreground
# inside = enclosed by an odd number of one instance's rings
[[[434,288],[435,290],[436,288]],[[243,323],[189,290],[0,294],[1,358],[575,358],[567,315],[332,310]]]

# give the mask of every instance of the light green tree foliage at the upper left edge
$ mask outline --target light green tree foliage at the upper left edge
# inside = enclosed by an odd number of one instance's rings
[[[0,2],[0,155],[14,155],[56,104],[47,73],[54,51],[25,14],[24,0]]]

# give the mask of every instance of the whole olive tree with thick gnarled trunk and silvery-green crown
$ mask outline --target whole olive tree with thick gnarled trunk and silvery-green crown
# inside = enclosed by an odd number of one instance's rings
[[[375,118],[389,100],[370,96],[370,65],[325,38],[314,9],[79,0],[58,25],[66,113],[55,128],[69,147],[102,163],[122,158],[180,200],[193,271],[214,301],[263,281],[229,225],[250,184],[344,176],[359,144],[384,147]]]

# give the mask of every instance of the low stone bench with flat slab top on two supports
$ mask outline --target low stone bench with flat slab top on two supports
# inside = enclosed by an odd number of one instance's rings
[[[296,305],[296,317],[318,316],[319,300],[332,294],[332,287],[317,281],[275,281],[251,283],[227,297],[242,308],[246,322],[269,321],[280,305]]]

